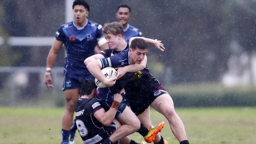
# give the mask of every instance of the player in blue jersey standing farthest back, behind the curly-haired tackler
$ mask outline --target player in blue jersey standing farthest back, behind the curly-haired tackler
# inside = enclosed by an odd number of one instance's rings
[[[124,39],[129,42],[131,37],[142,37],[141,31],[134,26],[128,24],[131,15],[131,7],[126,4],[121,4],[117,7],[117,13],[115,14],[117,21],[124,27]]]

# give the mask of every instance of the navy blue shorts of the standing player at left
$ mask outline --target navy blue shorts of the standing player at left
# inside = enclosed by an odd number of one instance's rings
[[[64,67],[62,90],[80,88],[82,81],[85,79],[95,78],[87,69],[77,68],[76,66],[66,64]]]

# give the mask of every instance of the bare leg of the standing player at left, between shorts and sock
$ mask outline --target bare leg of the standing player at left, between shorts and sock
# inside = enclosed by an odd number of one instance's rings
[[[66,106],[62,116],[62,129],[70,130],[73,122],[75,104],[78,101],[79,89],[65,90]]]

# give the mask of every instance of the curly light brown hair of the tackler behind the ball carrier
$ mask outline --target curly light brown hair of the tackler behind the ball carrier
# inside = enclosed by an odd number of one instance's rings
[[[121,23],[119,22],[108,22],[104,24],[103,26],[103,34],[108,35],[108,34],[113,34],[113,35],[118,35],[119,33],[122,34],[122,37],[124,37],[124,27],[122,26]]]

